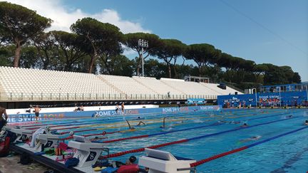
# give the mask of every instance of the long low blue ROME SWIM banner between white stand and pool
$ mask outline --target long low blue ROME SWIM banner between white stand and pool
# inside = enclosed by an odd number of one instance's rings
[[[140,108],[140,109],[130,109],[123,112],[116,112],[116,110],[97,110],[97,111],[81,111],[81,112],[52,112],[52,113],[41,113],[39,115],[39,120],[54,120],[63,118],[73,118],[73,117],[93,117],[93,115],[99,115],[100,117],[116,117],[123,115],[136,115],[144,117],[147,115],[155,114],[170,114],[176,112],[193,112],[195,110],[203,111],[217,111],[220,110],[221,106],[191,106],[191,107],[168,107],[168,108]],[[8,122],[28,122],[34,121],[34,114],[14,114],[9,115]]]

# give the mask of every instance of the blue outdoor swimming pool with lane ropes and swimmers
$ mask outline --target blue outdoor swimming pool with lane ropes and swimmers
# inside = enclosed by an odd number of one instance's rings
[[[289,115],[292,117],[288,117]],[[160,128],[163,125],[163,117],[167,117],[166,127]],[[52,130],[62,133],[63,137],[68,137],[68,132],[75,131],[76,135],[96,134],[88,136],[92,138],[106,131],[107,134],[101,137],[108,138],[98,142],[110,142],[106,143],[106,147],[110,148],[111,156],[120,155],[119,153],[128,150],[189,139],[158,147],[158,150],[198,161],[297,130],[304,127],[303,122],[307,119],[307,110],[303,109],[229,109],[221,112],[198,110],[165,115],[54,120],[24,127],[35,129],[41,125],[49,125]],[[128,130],[125,120],[128,120],[135,130]],[[146,125],[138,126],[140,121]],[[243,123],[249,126],[241,128],[240,125]],[[307,172],[307,132],[308,128],[305,128],[247,150],[213,159],[198,165],[197,172]],[[137,136],[137,139],[112,141]],[[140,157],[144,153],[132,152],[109,159],[125,162],[130,155]]]

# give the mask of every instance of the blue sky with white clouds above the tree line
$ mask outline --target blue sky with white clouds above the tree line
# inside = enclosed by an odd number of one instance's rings
[[[148,32],[186,44],[210,43],[256,63],[289,65],[308,81],[307,0],[7,0],[70,31],[77,19],[112,23],[123,33]],[[134,56],[132,51],[125,55]]]

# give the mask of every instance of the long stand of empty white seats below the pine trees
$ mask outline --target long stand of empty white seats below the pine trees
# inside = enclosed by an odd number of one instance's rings
[[[130,100],[134,95],[137,95],[135,99],[216,99],[217,95],[228,95],[235,92],[241,94],[229,87],[222,90],[217,85],[169,78],[157,80],[136,76],[130,78],[118,75],[0,67],[0,100],[2,101],[103,100],[111,98]]]

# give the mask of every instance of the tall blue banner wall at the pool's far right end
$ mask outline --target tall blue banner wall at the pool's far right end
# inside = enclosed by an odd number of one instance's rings
[[[307,100],[306,91],[302,92],[286,92],[280,93],[281,104],[293,106],[295,104],[302,105],[304,101]],[[270,101],[276,100],[277,105],[279,105],[279,93],[257,93],[257,103],[264,106],[270,106]],[[218,105],[224,106],[227,102],[230,106],[237,106],[240,103],[243,105],[243,101],[246,105],[255,106],[255,94],[244,94],[244,95],[218,95],[217,103]]]

